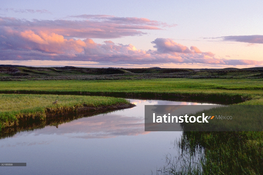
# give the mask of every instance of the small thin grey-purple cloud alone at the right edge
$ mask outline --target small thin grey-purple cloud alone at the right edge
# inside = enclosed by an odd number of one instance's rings
[[[243,36],[221,36],[212,39],[223,38],[224,41],[236,41],[244,43],[263,43],[263,35],[243,35]],[[206,38],[205,38],[206,39]]]

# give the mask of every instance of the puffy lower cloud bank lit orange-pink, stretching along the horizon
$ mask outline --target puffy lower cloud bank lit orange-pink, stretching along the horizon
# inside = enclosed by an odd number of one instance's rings
[[[211,52],[201,52],[197,47],[181,45],[171,39],[157,38],[152,43],[156,50],[138,50],[132,44],[115,44],[104,41],[95,43],[92,39],[66,39],[52,33],[35,34],[25,31],[16,34],[14,42],[6,45],[0,53],[1,60],[65,60],[89,61],[116,64],[218,64],[218,65],[260,65],[255,60],[227,60],[214,57]],[[0,37],[1,39],[1,37]],[[6,39],[6,38],[3,38]],[[6,40],[7,42],[7,40]],[[23,43],[20,44],[19,43]],[[13,47],[15,45],[15,47]],[[3,48],[3,47],[2,47]]]

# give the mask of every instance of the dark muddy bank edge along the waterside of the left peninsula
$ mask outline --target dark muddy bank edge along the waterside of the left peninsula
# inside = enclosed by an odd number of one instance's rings
[[[70,122],[78,118],[90,117],[134,106],[136,105],[124,103],[97,107],[83,104],[82,106],[46,108],[44,112],[20,113],[16,116],[16,121],[4,123],[4,128],[0,131],[0,139],[13,136],[21,131],[40,129],[48,125],[58,127],[61,123]]]

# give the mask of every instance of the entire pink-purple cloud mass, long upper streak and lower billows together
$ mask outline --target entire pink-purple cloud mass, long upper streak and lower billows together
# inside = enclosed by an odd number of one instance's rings
[[[20,20],[0,18],[0,60],[89,61],[114,64],[261,65],[260,61],[227,60],[188,48],[169,38],[156,38],[156,50],[138,50],[108,38],[142,35],[141,29],[161,29],[163,23],[136,17],[72,16],[85,20]],[[81,38],[81,39],[79,39]],[[91,38],[105,38],[103,44]]]

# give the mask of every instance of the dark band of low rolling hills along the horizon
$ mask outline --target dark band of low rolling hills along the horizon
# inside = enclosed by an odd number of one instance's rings
[[[85,68],[0,65],[0,81],[22,80],[127,80],[154,78],[263,78],[263,67],[245,69]]]

